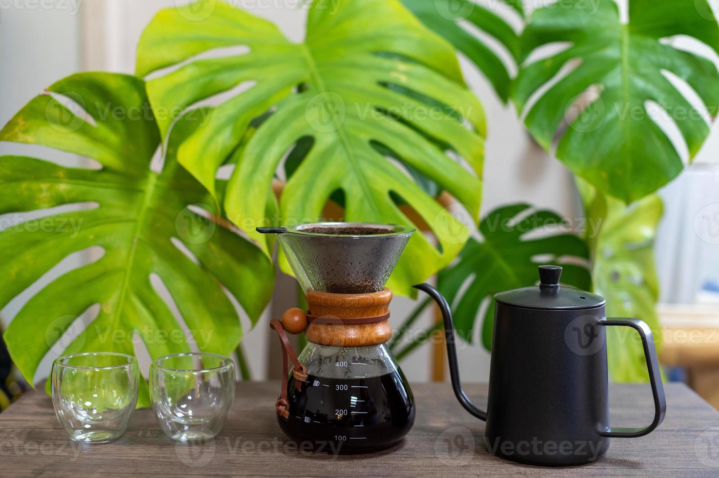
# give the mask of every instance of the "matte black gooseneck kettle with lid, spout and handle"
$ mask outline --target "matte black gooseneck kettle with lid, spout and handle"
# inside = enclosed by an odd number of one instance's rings
[[[491,454],[528,464],[567,466],[603,456],[610,438],[636,438],[654,430],[667,409],[651,328],[636,318],[607,318],[605,300],[560,287],[562,267],[539,267],[539,287],[495,295],[495,324],[487,411],[462,390],[452,313],[430,285],[444,318],[447,356],[457,400],[486,420]],[[609,426],[607,326],[628,326],[641,336],[654,395],[654,420],[645,428]]]

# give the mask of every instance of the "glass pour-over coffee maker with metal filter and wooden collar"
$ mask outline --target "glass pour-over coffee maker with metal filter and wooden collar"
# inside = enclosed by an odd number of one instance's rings
[[[308,311],[273,320],[283,346],[283,385],[275,403],[293,440],[339,451],[393,445],[412,428],[415,405],[385,342],[392,291],[385,288],[413,229],[364,223],[258,228],[278,234],[306,293]],[[305,332],[299,357],[285,335]],[[288,361],[292,363],[291,374]]]

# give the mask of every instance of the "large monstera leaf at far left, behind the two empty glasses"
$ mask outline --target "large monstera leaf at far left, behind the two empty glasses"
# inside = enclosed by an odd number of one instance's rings
[[[178,122],[178,132],[195,127]],[[168,146],[162,173],[150,169],[160,134],[142,80],[80,73],[58,81],[14,116],[0,141],[40,144],[101,165],[93,170],[0,157],[0,213],[66,206],[0,232],[0,307],[70,254],[102,251],[42,287],[7,328],[4,340],[29,382],[68,328],[75,333],[68,352],[134,354],[139,340],[152,357],[190,351],[185,328],[201,351],[234,350],[242,328],[223,287],[256,320],[270,298],[273,265],[257,247],[190,208],[212,198],[178,165],[176,144]],[[213,212],[210,206],[206,212]],[[151,276],[159,277],[174,304],[163,300]],[[83,328],[75,320],[93,305],[99,311]],[[139,404],[148,405],[144,382]]]

